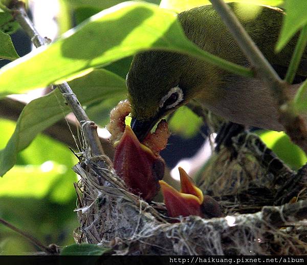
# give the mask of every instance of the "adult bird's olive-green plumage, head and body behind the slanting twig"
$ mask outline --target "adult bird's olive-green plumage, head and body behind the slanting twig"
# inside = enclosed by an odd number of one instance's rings
[[[253,41],[277,73],[286,74],[297,36],[278,54],[274,47],[282,25],[282,10],[270,7],[228,4]],[[244,19],[251,7],[257,16]],[[178,15],[185,35],[201,49],[231,62],[249,67],[250,63],[212,6],[184,11]],[[307,50],[303,54],[297,79],[307,76]],[[275,99],[261,79],[229,73],[187,55],[149,51],[137,54],[127,75],[128,97],[139,139],[163,116],[194,99],[213,113],[232,122],[282,130]],[[293,85],[293,95],[298,85]]]

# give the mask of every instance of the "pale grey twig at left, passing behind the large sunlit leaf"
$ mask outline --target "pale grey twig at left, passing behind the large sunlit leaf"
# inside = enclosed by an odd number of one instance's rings
[[[13,16],[20,24],[21,28],[25,30],[28,36],[36,47],[40,47],[49,43],[49,39],[42,38],[35,29],[32,21],[27,15],[25,4],[21,1],[12,1],[10,5]],[[79,121],[84,138],[90,147],[92,156],[101,156],[104,154],[100,140],[97,134],[97,125],[87,117],[84,109],[78,101],[76,95],[73,93],[71,87],[67,82],[57,85],[58,89],[64,96],[65,100],[71,107],[77,120]]]

